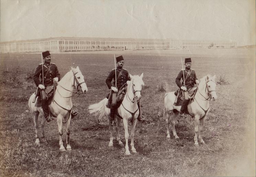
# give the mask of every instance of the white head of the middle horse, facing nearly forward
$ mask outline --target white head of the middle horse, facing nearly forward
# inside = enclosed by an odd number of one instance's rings
[[[138,76],[138,75],[132,76],[131,74],[129,74],[129,75],[130,75],[130,78],[131,78],[132,91],[133,91],[133,94],[134,94],[134,98],[136,98],[137,101],[140,101],[140,99],[141,99],[141,89],[142,89],[142,86],[145,85],[143,80],[142,80],[143,73],[141,74],[141,76]]]

